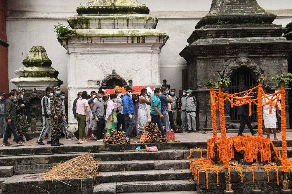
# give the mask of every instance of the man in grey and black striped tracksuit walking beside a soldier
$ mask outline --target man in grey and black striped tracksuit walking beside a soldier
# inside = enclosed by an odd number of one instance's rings
[[[46,133],[48,134],[48,142],[51,143],[51,109],[50,109],[50,97],[53,96],[53,89],[50,87],[46,88],[46,95],[41,99],[41,109],[42,109],[42,118],[43,118],[43,130],[41,130],[41,134],[39,135],[39,139],[36,143],[40,145],[45,145],[43,143]]]

